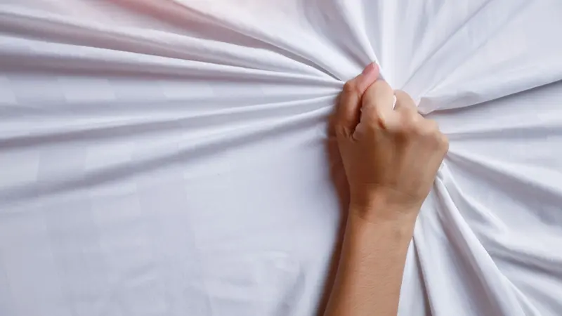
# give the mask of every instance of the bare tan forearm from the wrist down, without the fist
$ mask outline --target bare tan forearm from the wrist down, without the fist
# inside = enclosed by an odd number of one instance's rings
[[[396,315],[414,219],[365,220],[351,209],[325,316]]]

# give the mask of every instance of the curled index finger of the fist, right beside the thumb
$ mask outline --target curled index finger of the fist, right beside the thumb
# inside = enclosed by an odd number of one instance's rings
[[[362,99],[362,114],[376,118],[391,113],[394,103],[394,91],[384,80],[377,80],[367,88]]]

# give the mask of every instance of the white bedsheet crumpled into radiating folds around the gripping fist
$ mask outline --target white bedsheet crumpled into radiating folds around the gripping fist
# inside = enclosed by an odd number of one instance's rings
[[[400,315],[562,314],[562,1],[1,0],[0,315],[314,315],[327,117],[376,61],[450,138]]]

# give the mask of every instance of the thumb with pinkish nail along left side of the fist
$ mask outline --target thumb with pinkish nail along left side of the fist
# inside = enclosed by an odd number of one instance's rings
[[[336,109],[336,133],[351,136],[360,117],[361,98],[367,88],[379,77],[379,65],[372,62],[361,74],[347,81]]]

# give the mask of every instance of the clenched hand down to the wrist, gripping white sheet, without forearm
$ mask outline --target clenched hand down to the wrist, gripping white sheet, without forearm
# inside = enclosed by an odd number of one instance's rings
[[[415,220],[448,140],[436,121],[421,117],[407,93],[393,91],[378,77],[379,67],[367,66],[345,84],[336,110],[334,127],[351,208],[369,220]]]

